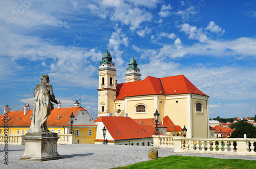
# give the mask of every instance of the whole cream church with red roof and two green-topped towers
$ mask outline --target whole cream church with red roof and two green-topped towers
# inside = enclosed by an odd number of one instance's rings
[[[117,83],[115,63],[104,53],[99,65],[98,118],[123,116],[132,119],[154,118],[160,113],[163,125],[168,117],[175,125],[187,128],[186,137],[209,137],[209,96],[184,75],[141,80],[134,57],[126,69],[125,83]]]

